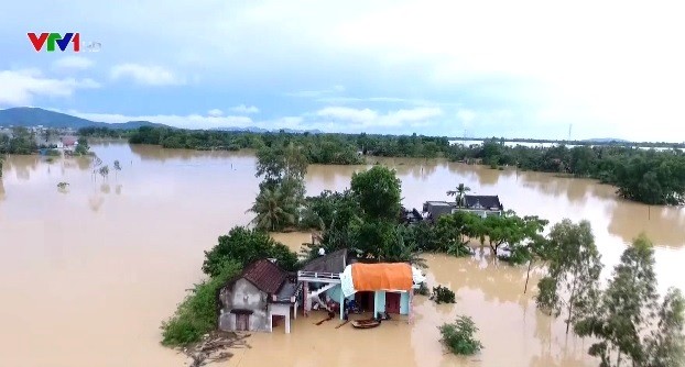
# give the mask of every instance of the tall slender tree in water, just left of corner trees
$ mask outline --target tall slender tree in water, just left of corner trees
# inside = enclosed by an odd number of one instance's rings
[[[550,232],[547,274],[540,279],[537,307],[550,314],[566,314],[569,325],[592,311],[598,297],[601,256],[590,223],[563,220]]]

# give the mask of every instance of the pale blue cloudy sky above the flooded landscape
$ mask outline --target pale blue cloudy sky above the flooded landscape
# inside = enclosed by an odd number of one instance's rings
[[[0,109],[180,127],[685,141],[677,1],[3,3]],[[36,52],[78,32],[99,52]]]

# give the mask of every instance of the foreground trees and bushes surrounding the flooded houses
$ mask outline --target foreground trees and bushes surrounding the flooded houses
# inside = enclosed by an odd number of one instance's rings
[[[231,229],[205,253],[207,279],[196,285],[163,323],[164,345],[211,344],[206,335],[218,327],[217,294],[255,262],[271,259],[295,274],[322,254],[345,249],[366,263],[409,263],[421,268],[426,266],[422,254],[471,256],[474,247],[486,246],[490,254],[507,248],[508,255],[497,256],[498,260],[526,266],[529,274],[534,265],[542,268],[537,307],[552,316],[563,316],[566,333],[591,336],[588,354],[601,366],[676,366],[683,362],[685,298],[678,289],[656,292],[654,251],[646,237],[634,240],[602,286],[604,265],[587,221],[564,220],[552,225],[547,235],[543,235],[546,220],[521,218],[512,211],[476,215],[456,210],[437,219],[406,221],[394,170],[374,165],[355,174],[346,191],[307,197],[304,176],[308,163],[306,147],[292,141],[258,151],[257,176],[262,181],[250,208],[254,213],[251,226]],[[450,191],[456,208],[463,207],[468,190],[457,185]],[[303,244],[296,254],[269,235],[289,230],[313,231],[317,241]],[[433,286],[431,299],[455,302],[454,292]],[[521,289],[525,291],[528,283]],[[414,292],[417,297],[428,293],[425,283]],[[468,315],[436,326],[445,347],[455,354],[476,354],[487,347],[478,341],[478,327]],[[192,351],[205,351],[193,354],[195,360],[210,354],[206,347]]]

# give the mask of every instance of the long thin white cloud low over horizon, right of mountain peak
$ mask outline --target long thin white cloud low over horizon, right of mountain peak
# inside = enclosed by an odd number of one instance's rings
[[[74,110],[66,111],[66,113],[73,114],[81,119],[101,121],[107,123],[123,123],[127,121],[150,121],[183,129],[244,127],[253,123],[252,119],[248,116],[203,116],[199,114],[124,115],[112,113],[88,113]]]

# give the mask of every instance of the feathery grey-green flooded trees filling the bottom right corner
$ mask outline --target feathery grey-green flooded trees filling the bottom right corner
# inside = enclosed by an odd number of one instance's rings
[[[574,325],[580,336],[598,340],[589,354],[600,366],[682,366],[684,300],[671,290],[659,305],[654,249],[640,235],[621,255],[599,304]],[[651,331],[651,332],[650,332]]]

